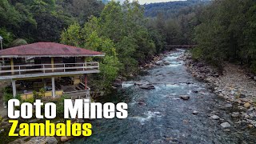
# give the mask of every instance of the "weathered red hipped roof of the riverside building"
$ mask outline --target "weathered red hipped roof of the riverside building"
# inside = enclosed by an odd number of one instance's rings
[[[28,45],[15,46],[5,50],[0,50],[0,57],[28,57],[28,56],[103,56],[103,53],[93,50],[86,50],[75,46],[67,46],[54,42],[36,42]]]

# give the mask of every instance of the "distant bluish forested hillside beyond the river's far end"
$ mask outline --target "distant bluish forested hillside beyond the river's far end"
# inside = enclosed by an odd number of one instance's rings
[[[160,2],[145,5],[148,25],[157,29],[167,45],[193,45],[194,27],[200,23],[198,16],[210,1]]]

